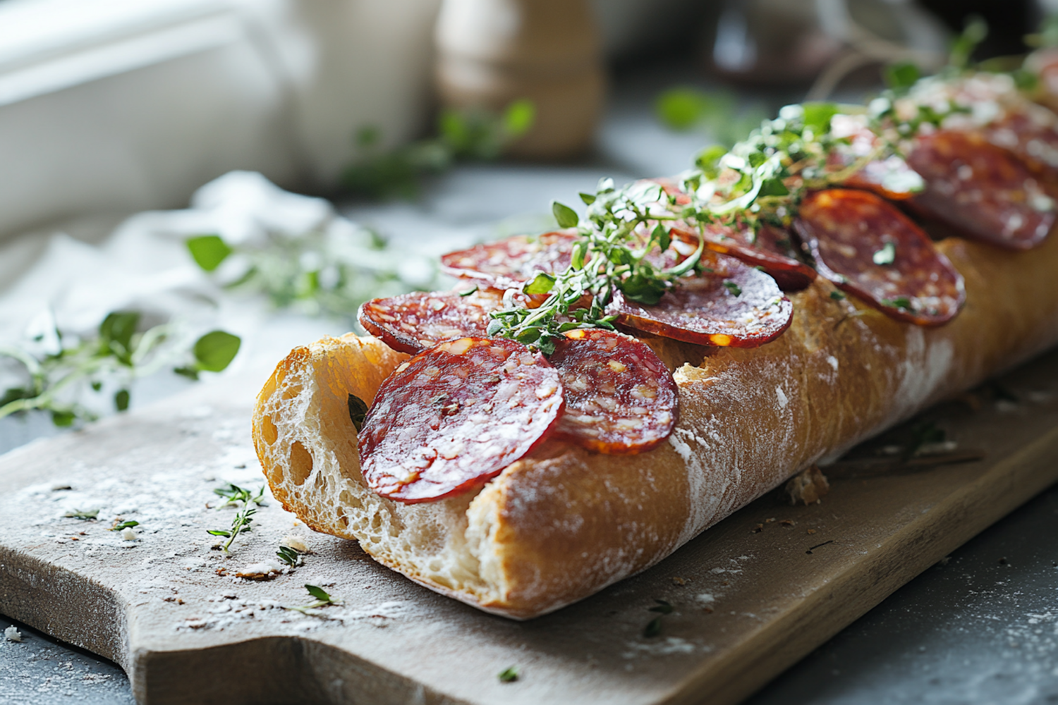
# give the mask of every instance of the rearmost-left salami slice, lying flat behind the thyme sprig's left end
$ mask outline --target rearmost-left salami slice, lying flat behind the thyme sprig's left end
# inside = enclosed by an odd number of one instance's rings
[[[576,230],[517,235],[443,255],[441,270],[454,277],[487,281],[496,289],[516,289],[536,272],[565,271],[577,238]]]

